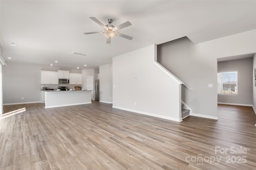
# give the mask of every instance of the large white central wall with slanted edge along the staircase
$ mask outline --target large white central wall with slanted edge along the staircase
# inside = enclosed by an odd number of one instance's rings
[[[154,63],[155,50],[113,57],[113,107],[180,121],[180,85]]]

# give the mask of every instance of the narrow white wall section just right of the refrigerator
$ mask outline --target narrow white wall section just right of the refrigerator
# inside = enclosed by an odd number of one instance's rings
[[[112,63],[100,66],[100,102],[113,102]]]

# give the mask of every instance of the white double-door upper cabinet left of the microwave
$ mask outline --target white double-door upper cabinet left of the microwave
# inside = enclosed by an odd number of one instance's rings
[[[41,84],[58,84],[58,72],[56,71],[41,71]]]

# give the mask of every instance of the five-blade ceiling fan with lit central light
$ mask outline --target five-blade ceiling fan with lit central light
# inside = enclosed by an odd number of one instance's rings
[[[111,43],[111,39],[114,38],[115,36],[120,36],[122,38],[126,38],[128,40],[132,40],[133,37],[131,36],[127,36],[125,34],[119,33],[117,32],[118,30],[121,30],[122,28],[126,28],[128,26],[131,26],[132,24],[127,21],[124,22],[123,24],[120,24],[118,26],[113,26],[111,23],[113,22],[112,19],[108,19],[108,24],[105,26],[104,24],[102,24],[102,22],[100,22],[97,18],[95,17],[90,17],[94,22],[96,22],[97,24],[99,24],[100,26],[102,26],[102,28],[104,28],[104,31],[98,31],[98,32],[85,32],[84,34],[98,34],[98,33],[103,33],[104,36],[107,38],[107,43]]]

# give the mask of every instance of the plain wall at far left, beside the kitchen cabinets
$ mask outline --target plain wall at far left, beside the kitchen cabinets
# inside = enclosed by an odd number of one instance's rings
[[[3,103],[40,102],[42,66],[14,62],[6,64],[7,67],[2,67]]]

